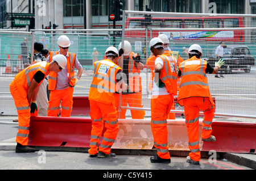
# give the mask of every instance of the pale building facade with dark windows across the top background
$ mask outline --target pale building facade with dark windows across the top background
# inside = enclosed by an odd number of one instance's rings
[[[34,13],[35,28],[42,29],[51,24],[59,29],[109,28],[109,14],[112,13],[113,0],[0,0],[0,17],[3,28],[11,28],[10,21],[2,17],[6,12]],[[208,13],[212,3],[219,14],[255,14],[250,0],[121,0],[123,10],[146,11],[146,6],[159,12]],[[2,11],[3,10],[3,11]],[[252,24],[255,20],[253,19]],[[121,24],[121,22],[117,22]],[[1,27],[1,26],[0,26]]]

